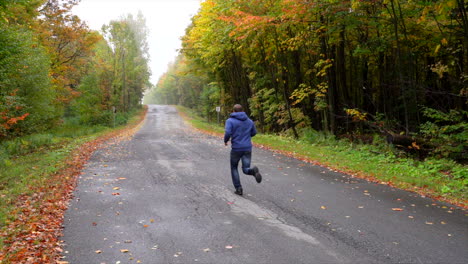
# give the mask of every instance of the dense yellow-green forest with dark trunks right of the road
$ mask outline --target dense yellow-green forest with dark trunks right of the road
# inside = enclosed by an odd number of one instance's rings
[[[464,0],[206,0],[146,98],[208,120],[240,103],[264,133],[307,131],[468,157]]]

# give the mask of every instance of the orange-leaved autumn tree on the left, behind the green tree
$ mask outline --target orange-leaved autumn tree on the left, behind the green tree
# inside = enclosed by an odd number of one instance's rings
[[[37,32],[51,57],[51,77],[59,104],[76,96],[76,87],[86,74],[99,35],[71,13],[79,0],[47,0],[40,9]]]

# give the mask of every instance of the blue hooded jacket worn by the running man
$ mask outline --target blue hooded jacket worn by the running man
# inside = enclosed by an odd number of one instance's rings
[[[255,124],[245,112],[231,113],[226,120],[224,143],[231,139],[233,151],[251,151],[251,138],[257,134]]]

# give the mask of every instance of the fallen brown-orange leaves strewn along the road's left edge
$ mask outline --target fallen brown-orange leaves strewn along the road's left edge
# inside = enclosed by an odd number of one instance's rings
[[[0,231],[4,238],[0,263],[64,263],[59,261],[62,252],[59,237],[81,169],[104,142],[123,140],[136,132],[146,112],[147,109],[142,111],[135,124],[83,144],[72,153],[65,169],[40,183],[31,183],[34,195],[19,197],[16,209],[11,212],[15,220]]]

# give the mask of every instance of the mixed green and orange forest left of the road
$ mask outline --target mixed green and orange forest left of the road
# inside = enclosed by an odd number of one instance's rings
[[[141,108],[150,86],[144,17],[97,32],[72,14],[78,3],[0,0],[0,143],[67,122],[113,126]]]

